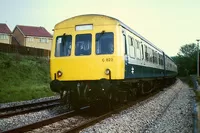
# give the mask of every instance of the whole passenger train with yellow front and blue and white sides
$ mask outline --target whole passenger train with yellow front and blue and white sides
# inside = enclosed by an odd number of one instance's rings
[[[121,21],[80,15],[55,25],[52,91],[74,107],[132,99],[177,75],[174,61]]]

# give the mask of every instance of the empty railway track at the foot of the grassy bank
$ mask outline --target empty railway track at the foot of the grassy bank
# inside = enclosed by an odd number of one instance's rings
[[[59,100],[60,99],[51,99],[51,100],[45,100],[42,102],[35,102],[35,103],[30,103],[30,104],[0,108],[0,119],[52,108],[52,107],[60,105]]]

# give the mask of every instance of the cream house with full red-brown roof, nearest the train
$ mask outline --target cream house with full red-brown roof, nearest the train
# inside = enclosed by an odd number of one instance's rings
[[[51,50],[52,35],[44,27],[16,25],[13,37],[18,45]]]

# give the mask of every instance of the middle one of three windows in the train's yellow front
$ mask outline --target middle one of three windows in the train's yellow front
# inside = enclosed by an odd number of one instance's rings
[[[76,35],[75,55],[90,55],[91,54],[91,34],[78,34]]]

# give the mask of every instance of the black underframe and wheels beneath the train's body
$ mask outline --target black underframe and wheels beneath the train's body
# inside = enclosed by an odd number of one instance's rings
[[[50,83],[52,91],[61,96],[64,104],[74,109],[89,105],[90,107],[112,108],[112,104],[126,103],[154,90],[162,90],[173,84],[175,77],[159,79],[130,80],[95,80],[95,81],[58,81]]]

